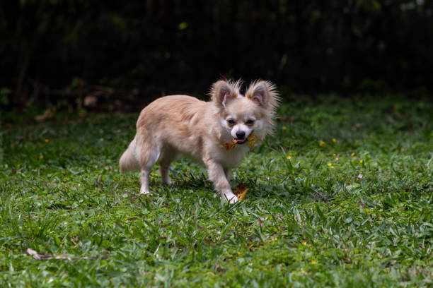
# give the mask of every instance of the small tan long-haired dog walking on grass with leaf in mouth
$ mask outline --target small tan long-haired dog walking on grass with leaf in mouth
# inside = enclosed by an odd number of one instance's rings
[[[141,169],[140,193],[146,194],[154,164],[159,162],[163,183],[171,184],[170,163],[185,155],[204,164],[221,197],[236,203],[229,182],[231,169],[250,149],[241,144],[248,137],[262,140],[272,132],[279,103],[270,82],[251,84],[245,97],[240,86],[240,81],[219,80],[212,85],[209,102],[173,95],[149,104],[139,115],[134,140],[120,157],[120,172]]]

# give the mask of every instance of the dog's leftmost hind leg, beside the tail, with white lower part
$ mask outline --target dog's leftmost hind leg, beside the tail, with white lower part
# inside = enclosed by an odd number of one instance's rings
[[[142,176],[142,188],[140,188],[140,194],[148,194],[149,191],[149,174],[158,160],[161,153],[161,148],[154,143],[143,143],[142,149],[140,150],[140,174]]]

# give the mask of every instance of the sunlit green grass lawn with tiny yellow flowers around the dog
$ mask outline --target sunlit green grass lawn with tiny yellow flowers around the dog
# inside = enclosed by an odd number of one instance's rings
[[[236,205],[188,160],[139,196],[117,167],[137,115],[3,126],[0,287],[432,287],[432,104],[328,96],[293,115],[233,170]]]

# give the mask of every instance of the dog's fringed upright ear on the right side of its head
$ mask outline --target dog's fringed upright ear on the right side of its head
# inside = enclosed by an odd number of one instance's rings
[[[255,81],[246,92],[246,97],[265,109],[275,109],[279,104],[277,88],[269,81]]]

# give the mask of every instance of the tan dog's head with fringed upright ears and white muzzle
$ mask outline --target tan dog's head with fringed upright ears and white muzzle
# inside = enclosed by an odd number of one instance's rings
[[[219,80],[212,86],[212,101],[218,109],[219,121],[237,144],[246,143],[255,133],[264,138],[272,131],[279,96],[275,85],[268,81],[255,81],[241,95],[241,81]]]

